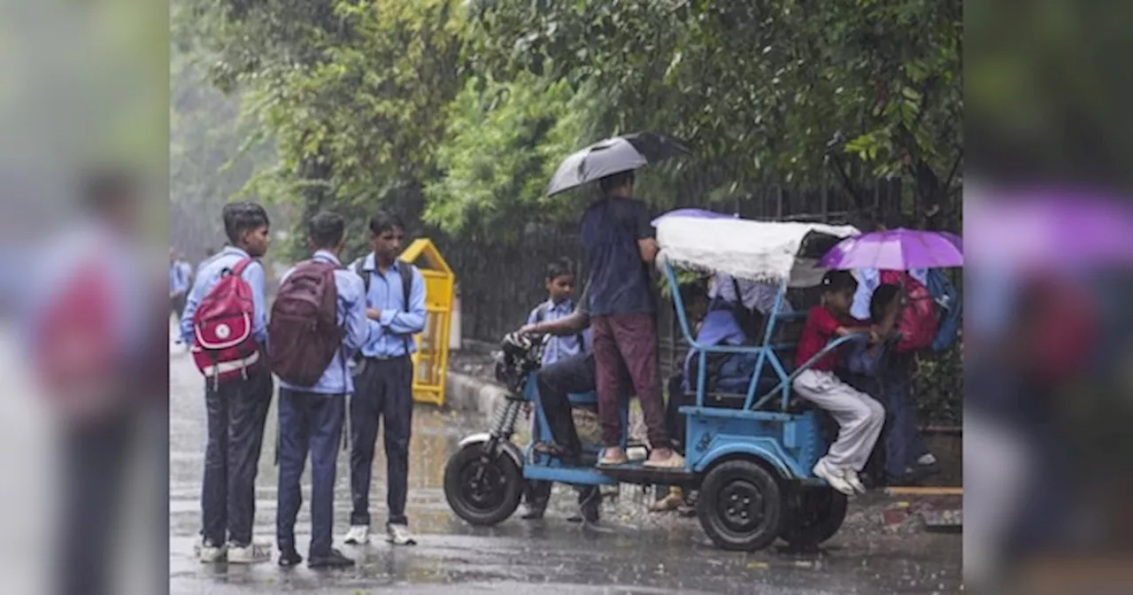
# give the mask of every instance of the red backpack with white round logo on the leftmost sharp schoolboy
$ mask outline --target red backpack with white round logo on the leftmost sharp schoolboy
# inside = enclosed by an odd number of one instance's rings
[[[221,271],[220,281],[193,314],[193,360],[206,379],[212,379],[213,388],[247,379],[248,371],[259,364],[259,346],[252,335],[252,286],[240,277],[249,264],[252,258],[244,258]]]

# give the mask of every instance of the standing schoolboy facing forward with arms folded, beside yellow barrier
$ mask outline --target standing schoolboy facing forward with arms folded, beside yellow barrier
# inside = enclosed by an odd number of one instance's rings
[[[369,222],[373,252],[355,265],[366,287],[369,339],[361,348],[364,368],[350,400],[349,544],[369,541],[369,483],[380,419],[386,459],[386,541],[416,543],[406,517],[414,413],[410,356],[416,350],[412,335],[425,329],[425,279],[416,266],[398,260],[404,229],[399,218],[378,211]]]

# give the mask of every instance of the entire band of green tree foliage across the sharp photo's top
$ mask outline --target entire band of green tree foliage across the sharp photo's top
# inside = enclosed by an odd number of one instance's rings
[[[959,221],[960,0],[178,3],[278,143],[248,192],[304,214],[506,241],[577,212],[543,196],[571,151],[656,130],[696,154],[644,178],[657,206],[898,176]]]

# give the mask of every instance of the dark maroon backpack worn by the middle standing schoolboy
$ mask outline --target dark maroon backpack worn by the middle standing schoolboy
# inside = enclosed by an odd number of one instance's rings
[[[314,386],[342,348],[337,269],[325,261],[304,261],[275,295],[267,324],[272,372],[289,384]]]

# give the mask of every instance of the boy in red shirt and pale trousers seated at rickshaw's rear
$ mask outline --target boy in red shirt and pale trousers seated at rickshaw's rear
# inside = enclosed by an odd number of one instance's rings
[[[877,334],[870,326],[850,316],[850,304],[858,289],[858,281],[849,271],[829,271],[823,278],[823,305],[807,314],[807,323],[799,339],[795,366],[801,367],[818,355],[828,342],[849,334],[869,332],[871,341]],[[858,473],[866,467],[885,423],[885,409],[872,397],[850,386],[834,374],[840,350],[832,351],[799,373],[792,383],[804,399],[826,409],[838,424],[838,437],[829,451],[815,465],[813,474],[826,479],[830,487],[852,494],[864,493]]]

